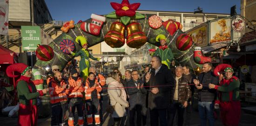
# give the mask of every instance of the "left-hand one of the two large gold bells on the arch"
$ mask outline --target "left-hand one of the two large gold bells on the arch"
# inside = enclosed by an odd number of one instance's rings
[[[104,41],[112,48],[120,48],[125,44],[125,26],[121,22],[113,22],[110,31],[105,35]]]

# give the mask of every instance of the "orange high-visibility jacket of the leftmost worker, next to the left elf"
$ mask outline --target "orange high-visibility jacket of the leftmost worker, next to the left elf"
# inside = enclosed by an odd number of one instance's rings
[[[51,82],[49,82],[49,94],[51,97],[51,104],[59,103],[61,101],[67,101],[68,90],[66,90],[65,88],[61,88],[64,84],[65,81],[63,80],[61,81],[61,86],[58,86],[54,78],[51,80]]]

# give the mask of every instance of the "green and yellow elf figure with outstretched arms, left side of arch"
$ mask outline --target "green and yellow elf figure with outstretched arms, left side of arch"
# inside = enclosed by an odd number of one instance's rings
[[[77,57],[80,56],[81,60],[79,62],[79,69],[80,69],[80,76],[86,80],[89,74],[89,68],[91,67],[91,63],[89,58],[93,59],[93,60],[100,60],[100,58],[95,58],[93,57],[89,51],[87,50],[88,48],[88,44],[87,44],[87,39],[82,37],[82,36],[78,36],[77,38],[75,38],[75,42],[80,43],[82,46],[82,49],[79,50],[78,52],[74,53],[71,51],[70,47],[68,47],[68,51],[71,53],[71,55]]]

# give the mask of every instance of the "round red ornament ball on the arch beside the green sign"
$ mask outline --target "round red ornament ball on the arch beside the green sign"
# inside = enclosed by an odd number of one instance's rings
[[[49,45],[37,45],[38,48],[35,51],[36,57],[42,61],[49,61],[54,57],[54,50]]]

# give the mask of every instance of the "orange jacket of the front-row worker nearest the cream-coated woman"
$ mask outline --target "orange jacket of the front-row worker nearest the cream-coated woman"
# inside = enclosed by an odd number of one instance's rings
[[[88,78],[89,79],[89,78]],[[101,99],[101,95],[99,92],[101,92],[102,88],[101,88],[101,85],[100,83],[95,80],[95,83],[97,83],[97,86],[95,88],[90,88],[89,87],[89,81],[88,79],[86,80],[86,83],[85,83],[85,87],[84,87],[84,92],[85,92],[85,100],[92,100],[92,92],[96,89],[97,90],[97,97],[98,99]]]

